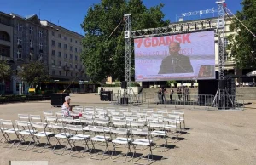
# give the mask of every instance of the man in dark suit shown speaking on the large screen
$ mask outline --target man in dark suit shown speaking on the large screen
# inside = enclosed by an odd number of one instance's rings
[[[158,74],[191,73],[193,67],[188,56],[179,54],[180,43],[172,42],[169,45],[169,56],[162,60]]]

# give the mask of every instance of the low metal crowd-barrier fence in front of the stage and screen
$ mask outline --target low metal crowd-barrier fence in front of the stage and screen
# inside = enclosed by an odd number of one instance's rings
[[[124,98],[126,98],[126,100],[128,99],[128,102],[126,102]],[[224,102],[221,102],[218,98],[215,98],[215,95],[209,94],[173,94],[170,97],[170,94],[124,95],[113,93],[112,103],[113,105],[147,105],[148,107],[174,106],[175,108],[206,110],[226,109],[242,111],[244,108],[244,100],[237,95],[226,95]]]

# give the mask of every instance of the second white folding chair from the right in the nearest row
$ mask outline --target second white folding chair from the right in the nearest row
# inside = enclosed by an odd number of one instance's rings
[[[112,139],[113,144],[113,151],[111,154],[111,159],[113,162],[126,162],[128,153],[131,152],[131,138],[129,138],[129,130],[126,128],[110,128],[110,133],[112,134],[118,134],[119,136]],[[120,136],[123,135],[123,136]],[[125,145],[124,147],[127,147],[127,152],[125,154],[125,161],[119,161],[117,160],[121,155],[119,155],[117,158],[113,158],[113,153],[116,152],[116,146],[117,145]]]

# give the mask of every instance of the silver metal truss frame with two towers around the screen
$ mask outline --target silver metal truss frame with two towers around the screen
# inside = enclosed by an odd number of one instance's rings
[[[131,14],[125,14],[125,81],[127,81],[127,91],[125,96],[131,98],[133,91],[131,89],[131,39],[143,37],[161,37],[172,34],[192,33],[197,31],[215,31],[215,37],[218,37],[218,74],[219,83],[218,91],[212,104],[218,107],[225,106],[226,89],[224,88],[224,8],[225,1],[216,2],[218,4],[218,18],[192,20],[187,22],[179,22],[170,26],[149,28],[131,31]]]

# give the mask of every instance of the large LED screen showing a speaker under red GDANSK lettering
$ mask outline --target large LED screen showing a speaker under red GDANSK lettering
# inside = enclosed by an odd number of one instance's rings
[[[215,78],[214,31],[138,38],[134,48],[137,82]]]

